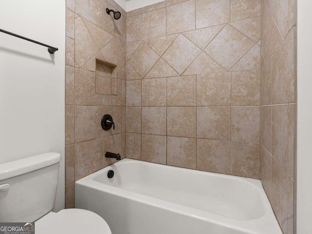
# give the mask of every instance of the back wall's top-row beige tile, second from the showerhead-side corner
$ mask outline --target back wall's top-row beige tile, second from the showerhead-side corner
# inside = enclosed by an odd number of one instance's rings
[[[141,16],[141,39],[150,39],[166,35],[166,9],[144,13]]]

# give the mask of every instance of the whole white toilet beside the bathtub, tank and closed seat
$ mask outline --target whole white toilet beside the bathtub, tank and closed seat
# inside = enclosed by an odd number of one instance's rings
[[[51,211],[60,160],[60,154],[46,153],[0,164],[0,222],[35,222],[36,234],[112,234],[93,212]]]

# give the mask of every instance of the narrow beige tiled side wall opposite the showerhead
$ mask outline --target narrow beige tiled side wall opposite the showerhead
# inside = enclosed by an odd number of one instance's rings
[[[283,233],[293,234],[296,1],[261,3],[261,180]]]

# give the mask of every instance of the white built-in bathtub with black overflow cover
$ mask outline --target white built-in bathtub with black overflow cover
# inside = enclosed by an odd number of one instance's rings
[[[255,179],[123,159],[78,180],[75,198],[113,234],[282,234]]]

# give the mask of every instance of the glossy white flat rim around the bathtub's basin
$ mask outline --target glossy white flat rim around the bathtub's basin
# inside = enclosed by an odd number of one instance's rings
[[[139,163],[139,164],[147,164],[147,165],[154,164],[159,167],[175,168],[178,171],[191,170],[195,173],[202,174],[202,175],[230,178],[230,179],[242,181],[244,183],[248,183],[250,186],[254,187],[254,189],[256,189],[259,192],[260,199],[263,203],[264,214],[254,219],[236,219],[236,218],[232,218],[232,217],[228,217],[224,215],[219,215],[215,213],[198,210],[192,207],[162,200],[160,198],[152,197],[149,195],[143,195],[143,194],[139,194],[136,192],[128,191],[128,190],[125,190],[116,186],[108,185],[108,184],[101,183],[99,181],[94,180],[95,177],[102,175],[108,170],[114,170],[113,167],[116,167],[119,164],[125,164],[125,163]],[[144,203],[146,205],[150,205],[159,209],[164,209],[170,212],[175,212],[180,215],[186,215],[186,216],[200,219],[203,221],[212,222],[220,226],[226,226],[237,231],[246,232],[248,234],[282,234],[281,229],[275,218],[275,215],[273,214],[273,210],[269,202],[269,199],[262,187],[262,183],[260,180],[257,180],[257,179],[240,177],[240,176],[232,176],[232,175],[224,175],[224,174],[218,174],[218,173],[213,173],[213,172],[198,171],[194,169],[180,168],[180,167],[174,167],[174,166],[169,166],[169,165],[163,165],[163,164],[151,163],[151,162],[146,162],[146,161],[141,161],[141,160],[124,158],[89,176],[85,176],[79,179],[78,181],[75,182],[75,190],[76,190],[76,186],[83,186],[83,187],[87,187],[93,190],[101,191],[103,193],[116,195],[118,197],[129,199],[135,202]],[[78,196],[76,191],[75,191],[75,196]],[[266,224],[266,225],[263,225],[263,224]]]

